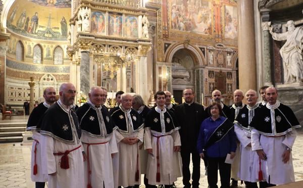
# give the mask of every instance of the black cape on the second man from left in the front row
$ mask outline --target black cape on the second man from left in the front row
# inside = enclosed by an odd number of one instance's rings
[[[85,103],[76,110],[81,131],[92,137],[106,138],[113,135],[116,129],[112,117],[104,106],[94,107],[91,103]]]

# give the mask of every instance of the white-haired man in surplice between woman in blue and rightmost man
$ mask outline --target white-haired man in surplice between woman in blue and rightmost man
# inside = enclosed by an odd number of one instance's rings
[[[249,123],[254,118],[255,112],[260,109],[257,103],[257,91],[249,89],[245,93],[245,100],[247,106],[239,110],[239,113],[234,121],[235,132],[240,141],[240,163],[238,170],[238,177],[245,181],[245,185],[249,188],[258,187],[258,176],[255,173],[259,172],[259,156],[256,151],[251,150],[251,128]]]

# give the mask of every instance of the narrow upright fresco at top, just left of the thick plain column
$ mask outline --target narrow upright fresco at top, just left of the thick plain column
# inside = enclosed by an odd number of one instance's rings
[[[224,23],[224,36],[225,38],[237,38],[237,7],[225,6],[225,23]]]

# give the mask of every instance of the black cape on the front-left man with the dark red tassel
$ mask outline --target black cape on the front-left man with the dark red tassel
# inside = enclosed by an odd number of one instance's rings
[[[81,129],[75,109],[70,108],[67,111],[59,101],[49,107],[44,113],[40,125],[41,134],[52,136],[65,144],[77,144],[80,142]],[[75,133],[76,135],[74,136]]]

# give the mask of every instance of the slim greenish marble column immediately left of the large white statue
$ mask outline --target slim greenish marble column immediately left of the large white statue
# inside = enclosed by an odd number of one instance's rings
[[[263,31],[263,66],[264,66],[264,84],[273,85],[271,74],[271,34],[268,28],[271,22],[262,22]]]

